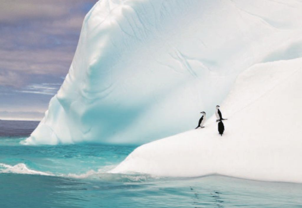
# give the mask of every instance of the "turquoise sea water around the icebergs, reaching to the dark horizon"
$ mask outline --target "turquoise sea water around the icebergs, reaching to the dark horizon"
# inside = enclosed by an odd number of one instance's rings
[[[302,184],[108,174],[133,146],[20,144],[38,122],[0,121],[0,207],[302,207]]]

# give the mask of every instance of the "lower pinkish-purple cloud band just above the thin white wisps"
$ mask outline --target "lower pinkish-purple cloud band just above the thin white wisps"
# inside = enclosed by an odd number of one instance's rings
[[[29,82],[40,82],[45,76],[65,76],[69,70],[73,52],[54,50],[1,50],[0,49],[0,85],[20,88]],[[36,79],[36,80],[33,80]],[[53,82],[53,80],[49,80]]]

